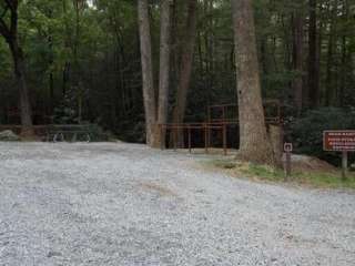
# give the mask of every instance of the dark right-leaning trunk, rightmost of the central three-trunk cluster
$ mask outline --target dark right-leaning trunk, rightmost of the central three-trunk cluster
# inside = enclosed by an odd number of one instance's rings
[[[185,28],[185,40],[183,40],[183,51],[180,65],[180,78],[176,91],[176,102],[173,111],[173,122],[176,124],[183,123],[185,111],[187,90],[191,81],[193,54],[196,39],[196,24],[197,24],[197,1],[189,1],[187,21]],[[179,142],[183,142],[183,134],[179,134]]]

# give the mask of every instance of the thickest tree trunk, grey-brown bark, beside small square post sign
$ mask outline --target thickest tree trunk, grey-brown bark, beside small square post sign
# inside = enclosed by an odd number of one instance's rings
[[[255,27],[250,0],[232,0],[240,117],[239,158],[275,164],[263,110]]]

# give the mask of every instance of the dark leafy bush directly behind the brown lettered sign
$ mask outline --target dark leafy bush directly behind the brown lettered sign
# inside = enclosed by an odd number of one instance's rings
[[[294,143],[295,152],[339,165],[339,153],[323,151],[323,132],[326,130],[355,130],[355,109],[323,108],[286,122],[286,137]]]

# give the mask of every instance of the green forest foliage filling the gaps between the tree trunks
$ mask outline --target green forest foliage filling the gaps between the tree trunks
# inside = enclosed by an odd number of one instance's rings
[[[149,2],[153,69],[154,76],[158,76],[160,1]],[[173,2],[176,6],[173,9],[170,117],[178,90],[187,1]],[[186,108],[186,121],[190,122],[204,121],[209,104],[235,103],[237,98],[231,1],[197,2],[197,39]],[[321,1],[317,9],[321,29],[318,34],[323,37],[320,45],[320,102],[325,102],[328,37],[332,33],[332,23],[336,23],[331,68],[332,85],[334,95],[341,95],[344,91],[344,96],[334,99],[331,104],[354,106],[354,4],[348,3],[351,7],[346,13],[342,10],[341,1],[336,19],[332,22],[333,2]],[[79,10],[75,3],[80,3]],[[306,81],[307,78],[307,1],[255,0],[253,3],[263,95],[294,105],[293,81],[300,76]],[[3,11],[2,8],[0,4],[0,13]],[[292,20],[295,13],[304,18],[304,72],[294,70]],[[9,13],[4,20],[9,22]],[[58,123],[78,123],[78,102],[82,100],[82,120],[98,122],[104,129],[120,135],[122,140],[143,142],[144,115],[138,35],[136,1],[20,1],[19,37],[26,55],[33,113],[54,116]],[[6,115],[6,108],[16,108],[19,102],[12,66],[8,44],[0,37],[0,105],[3,106],[0,109],[1,123],[11,122]],[[305,91],[306,86],[305,82]],[[337,112],[332,111],[335,116]],[[353,113],[351,111],[351,114]],[[315,120],[320,127],[316,129],[313,122],[308,126],[311,120]],[[338,162],[337,155],[324,155],[322,152],[322,126],[338,127],[329,124],[329,120],[334,117],[325,110],[315,111],[314,114],[307,113],[300,122],[292,123],[290,135],[295,140],[300,152]],[[338,122],[338,125],[342,123]],[[346,122],[346,126],[353,126],[353,123]]]

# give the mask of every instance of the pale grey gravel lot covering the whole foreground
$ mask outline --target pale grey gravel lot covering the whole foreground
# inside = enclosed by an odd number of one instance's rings
[[[0,143],[0,265],[355,265],[355,193],[144,145]]]

